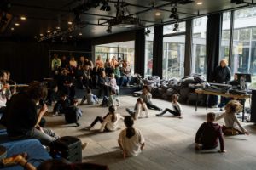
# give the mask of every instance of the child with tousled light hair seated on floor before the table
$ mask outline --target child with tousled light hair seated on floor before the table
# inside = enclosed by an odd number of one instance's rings
[[[249,134],[247,130],[241,126],[241,123],[236,117],[236,113],[242,111],[242,105],[237,100],[231,100],[225,106],[225,112],[216,117],[216,121],[224,118],[225,125],[222,127],[222,131],[225,135],[236,135],[236,134]],[[236,127],[238,125],[239,128]]]

